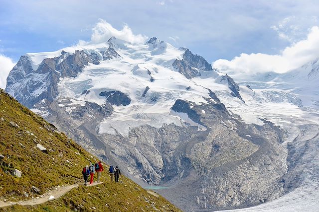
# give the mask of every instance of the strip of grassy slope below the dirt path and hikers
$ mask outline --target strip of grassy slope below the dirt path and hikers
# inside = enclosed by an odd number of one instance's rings
[[[93,209],[95,207],[96,209]],[[111,183],[107,181],[98,186],[79,186],[58,200],[52,200],[45,204],[36,206],[11,206],[5,208],[4,212],[69,212],[76,209],[78,212],[177,212],[172,204],[162,197],[155,197],[147,193],[143,188],[137,186],[127,178],[122,183]]]

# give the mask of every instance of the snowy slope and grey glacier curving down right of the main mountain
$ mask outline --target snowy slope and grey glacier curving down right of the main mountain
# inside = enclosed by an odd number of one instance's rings
[[[246,106],[226,102],[226,107],[241,116],[263,116],[287,130],[287,138],[282,143],[287,150],[287,173],[281,180],[282,197],[234,211],[318,210],[318,70],[316,59],[286,73],[269,72],[237,80]]]

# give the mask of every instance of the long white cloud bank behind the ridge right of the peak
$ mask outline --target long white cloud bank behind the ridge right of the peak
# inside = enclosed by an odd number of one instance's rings
[[[233,75],[245,75],[274,71],[284,73],[303,66],[319,57],[319,27],[310,29],[306,39],[286,47],[281,54],[245,54],[231,61],[217,60],[213,67]]]

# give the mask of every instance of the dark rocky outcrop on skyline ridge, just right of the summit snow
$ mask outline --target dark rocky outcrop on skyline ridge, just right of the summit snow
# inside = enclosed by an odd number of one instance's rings
[[[201,74],[198,70],[213,71],[211,65],[203,57],[193,55],[188,49],[183,55],[183,60],[175,60],[172,65],[188,79],[200,76]]]

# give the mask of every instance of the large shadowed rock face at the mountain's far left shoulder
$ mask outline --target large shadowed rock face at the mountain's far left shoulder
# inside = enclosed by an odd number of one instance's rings
[[[59,57],[44,59],[33,70],[30,59],[21,56],[9,73],[5,91],[29,108],[42,99],[52,101],[58,95],[60,77],[75,77],[89,63],[97,63],[96,54],[62,52]]]

